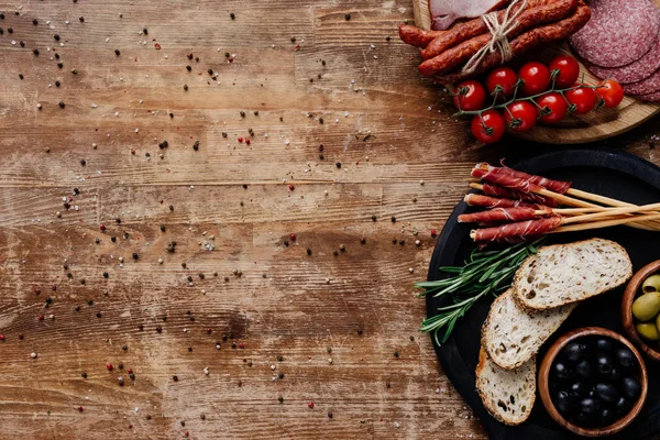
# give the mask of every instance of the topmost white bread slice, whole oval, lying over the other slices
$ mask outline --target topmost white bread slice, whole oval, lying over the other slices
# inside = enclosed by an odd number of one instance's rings
[[[618,243],[591,239],[543,246],[518,268],[514,296],[527,310],[580,301],[624,284],[632,263]]]

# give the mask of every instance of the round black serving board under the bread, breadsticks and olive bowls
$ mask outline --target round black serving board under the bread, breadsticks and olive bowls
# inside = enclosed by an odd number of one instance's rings
[[[516,169],[546,177],[570,180],[573,187],[590,193],[614,197],[636,205],[660,201],[660,168],[637,156],[619,151],[569,150],[559,151],[530,160],[507,164]],[[474,244],[469,237],[470,224],[459,224],[457,217],[469,212],[465,202],[457,206],[447,221],[436,244],[428,279],[447,276],[440,266],[461,265]],[[660,258],[660,232],[649,232],[626,227],[562,233],[551,235],[549,243],[572,242],[600,237],[620,243],[630,254],[632,270]],[[620,298],[625,286],[582,302],[540,350],[538,362],[548,346],[568,330],[600,326],[624,333],[619,318]],[[450,298],[427,297],[427,316],[437,315],[437,308],[448,305]],[[491,417],[483,407],[474,387],[474,369],[477,363],[481,326],[486,318],[493,298],[484,298],[459,321],[451,338],[438,346],[436,353],[444,373],[465,402],[480,417],[491,439],[579,439],[550,418],[537,393],[530,418],[518,427],[505,426]],[[432,339],[432,338],[431,338]],[[649,393],[639,417],[623,432],[610,438],[647,439],[660,432],[660,364],[647,362],[649,367]]]

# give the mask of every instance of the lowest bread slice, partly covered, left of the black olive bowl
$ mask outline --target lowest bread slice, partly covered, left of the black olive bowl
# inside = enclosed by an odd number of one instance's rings
[[[503,370],[482,346],[476,391],[491,416],[506,425],[520,425],[531,414],[536,400],[536,359],[516,370]]]

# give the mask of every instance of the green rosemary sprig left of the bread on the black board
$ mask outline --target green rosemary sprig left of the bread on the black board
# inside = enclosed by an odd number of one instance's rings
[[[502,251],[474,250],[470,261],[462,267],[440,267],[441,272],[454,274],[444,279],[420,282],[415,285],[422,288],[419,297],[432,294],[433,297],[451,295],[452,304],[438,308],[439,315],[427,318],[421,322],[420,330],[433,332],[438,345],[447,342],[457,321],[482,297],[498,295],[510,286],[512,278],[518,266],[531,254],[537,253],[538,245],[543,239],[532,243],[519,243]],[[442,341],[438,331],[444,330]]]

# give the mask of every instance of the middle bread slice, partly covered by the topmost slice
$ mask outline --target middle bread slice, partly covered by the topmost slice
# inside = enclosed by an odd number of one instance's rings
[[[513,289],[493,301],[482,327],[482,346],[499,367],[513,370],[529,361],[576,307],[574,304],[529,312]]]

